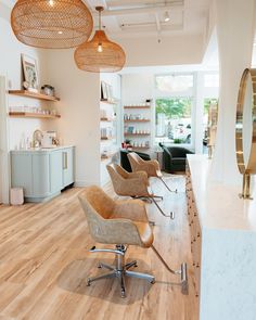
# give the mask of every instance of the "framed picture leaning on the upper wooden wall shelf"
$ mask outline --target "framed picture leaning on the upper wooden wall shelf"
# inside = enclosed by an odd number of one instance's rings
[[[22,66],[25,79],[25,89],[38,92],[39,79],[37,71],[37,61],[26,54],[22,54]]]

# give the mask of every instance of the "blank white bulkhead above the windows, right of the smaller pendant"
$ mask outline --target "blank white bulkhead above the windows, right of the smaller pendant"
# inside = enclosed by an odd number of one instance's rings
[[[204,53],[203,36],[121,38],[126,66],[197,64]]]

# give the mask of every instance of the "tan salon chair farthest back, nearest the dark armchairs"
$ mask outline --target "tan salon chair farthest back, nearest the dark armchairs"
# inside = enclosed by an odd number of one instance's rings
[[[156,159],[153,161],[144,161],[142,159],[137,153],[130,152],[127,154],[128,159],[130,162],[130,166],[133,172],[137,171],[145,171],[148,177],[156,177],[161,179],[161,181],[165,184],[165,187],[170,191],[170,192],[176,192],[176,190],[170,190],[169,187],[166,184],[166,182],[163,179],[163,175],[161,172],[159,168],[159,163]]]

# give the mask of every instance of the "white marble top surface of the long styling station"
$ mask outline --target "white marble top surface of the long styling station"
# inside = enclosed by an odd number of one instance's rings
[[[210,164],[204,155],[188,155],[192,187],[201,228],[256,231],[256,193],[254,200],[239,197],[241,188],[213,182]]]

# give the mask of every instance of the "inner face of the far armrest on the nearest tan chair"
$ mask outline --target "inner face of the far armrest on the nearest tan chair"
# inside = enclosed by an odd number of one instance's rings
[[[113,218],[125,218],[132,221],[149,222],[145,205],[141,200],[124,200],[116,202]]]

